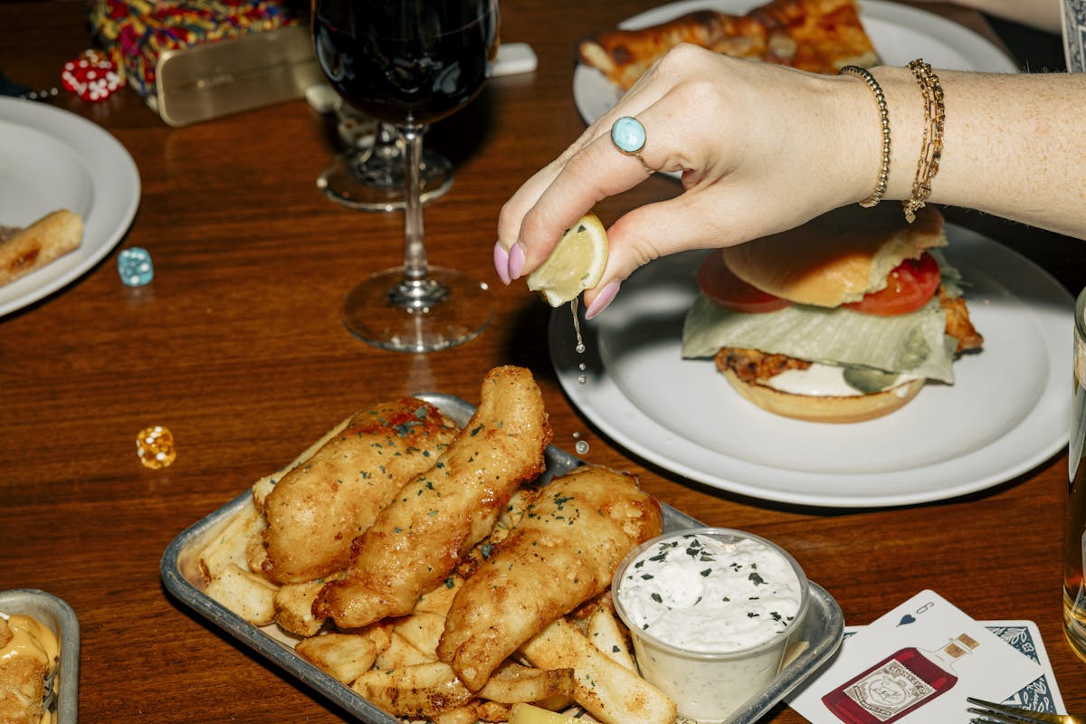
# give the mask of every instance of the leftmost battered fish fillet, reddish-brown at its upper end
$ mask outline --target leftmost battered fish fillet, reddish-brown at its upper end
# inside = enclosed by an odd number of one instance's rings
[[[356,412],[265,498],[264,572],[303,583],[343,570],[351,542],[455,434],[456,423],[414,397]]]

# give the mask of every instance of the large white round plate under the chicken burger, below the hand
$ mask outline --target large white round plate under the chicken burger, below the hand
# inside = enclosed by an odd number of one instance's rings
[[[682,359],[682,322],[705,252],[643,267],[582,322],[550,326],[573,404],[642,458],[714,487],[808,506],[884,507],[951,498],[1010,480],[1068,442],[1073,300],[1028,259],[947,225],[947,257],[972,284],[984,350],[900,410],[853,424],[801,422],[746,402],[711,359]],[[585,365],[582,372],[579,365]],[[585,382],[579,381],[579,376]]]

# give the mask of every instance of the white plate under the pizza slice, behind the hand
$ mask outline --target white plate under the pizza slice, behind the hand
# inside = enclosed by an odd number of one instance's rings
[[[619,24],[636,29],[665,23],[695,10],[745,13],[757,0],[683,0],[634,15]],[[967,27],[924,10],[895,2],[860,0],[860,21],[883,63],[907,65],[923,58],[932,67],[947,71],[1016,73],[1018,68],[999,48]],[[573,101],[585,123],[606,113],[622,90],[595,68],[578,65],[573,71]]]

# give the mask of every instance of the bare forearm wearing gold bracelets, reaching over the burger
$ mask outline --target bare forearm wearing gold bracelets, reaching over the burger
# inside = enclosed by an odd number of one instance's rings
[[[946,123],[931,201],[1086,238],[1086,76],[936,73]],[[907,199],[922,145],[920,88],[907,68],[874,75],[891,112],[887,198]]]

